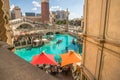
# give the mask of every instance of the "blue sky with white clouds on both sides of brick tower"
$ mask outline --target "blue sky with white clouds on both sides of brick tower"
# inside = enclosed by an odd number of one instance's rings
[[[41,13],[41,0],[10,0],[11,10],[15,6],[21,8],[22,14],[25,12]],[[69,10],[69,18],[80,18],[83,16],[84,0],[49,0],[50,11]]]

